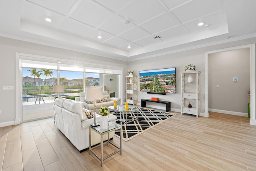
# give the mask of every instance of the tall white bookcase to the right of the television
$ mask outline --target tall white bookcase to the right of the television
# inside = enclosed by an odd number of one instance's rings
[[[200,114],[200,71],[186,71],[181,74],[181,114]],[[188,82],[191,75],[193,81]],[[191,78],[190,78],[191,80]],[[188,104],[192,107],[188,107]]]

